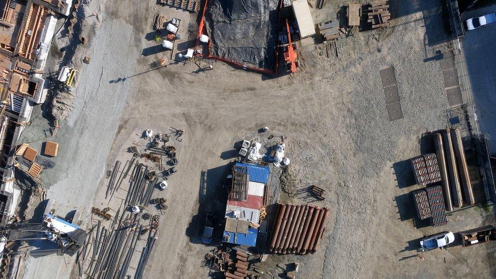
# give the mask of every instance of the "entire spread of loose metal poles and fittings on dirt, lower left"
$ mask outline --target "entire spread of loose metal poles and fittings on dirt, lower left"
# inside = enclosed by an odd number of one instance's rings
[[[175,140],[180,141],[184,131],[171,131]],[[133,142],[134,146],[128,148],[132,159],[124,165],[116,161],[113,170],[107,172],[109,180],[105,199],[108,203],[119,199],[120,207],[117,211],[109,206],[104,209],[92,208],[93,218],[101,220],[92,226],[78,253],[80,276],[125,278],[134,273],[134,278],[143,277],[158,235],[160,215],[154,212],[167,209],[167,199],[152,196],[155,189],[165,190],[167,176],[176,172],[174,167],[166,170],[163,159],[168,158],[167,164],[170,166],[178,163],[174,146],[164,144],[159,147],[161,142],[170,141],[170,134],[145,131],[144,138],[149,140],[147,145],[138,149],[141,145]],[[159,177],[164,178],[160,183]],[[141,253],[136,253],[140,250]]]

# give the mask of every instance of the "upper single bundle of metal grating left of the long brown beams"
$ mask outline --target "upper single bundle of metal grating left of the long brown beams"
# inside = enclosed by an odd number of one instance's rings
[[[441,173],[436,154],[429,153],[424,156],[415,157],[411,162],[417,184],[427,185],[441,181]]]

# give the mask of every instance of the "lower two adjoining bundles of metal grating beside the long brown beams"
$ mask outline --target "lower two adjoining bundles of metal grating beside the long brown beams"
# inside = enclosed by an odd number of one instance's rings
[[[415,200],[417,215],[420,219],[430,218],[430,225],[433,227],[448,224],[441,185],[427,187],[412,194]]]

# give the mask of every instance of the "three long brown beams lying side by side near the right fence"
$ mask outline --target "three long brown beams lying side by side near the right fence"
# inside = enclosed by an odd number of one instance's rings
[[[453,210],[453,206],[463,206],[463,201],[467,205],[473,205],[475,198],[460,130],[446,129],[437,132],[434,143],[447,210]]]

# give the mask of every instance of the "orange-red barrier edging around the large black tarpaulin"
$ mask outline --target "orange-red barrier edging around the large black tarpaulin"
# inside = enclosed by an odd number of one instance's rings
[[[281,17],[281,9],[283,6],[283,0],[280,0],[279,3],[280,3],[279,4],[279,16]],[[259,72],[259,73],[263,73],[263,74],[269,74],[269,75],[278,75],[279,74],[279,58],[278,58],[279,57],[278,56],[278,54],[279,54],[278,49],[280,47],[279,41],[277,41],[277,47],[275,49],[275,72],[264,69],[264,68],[258,68],[258,67],[243,65],[243,64],[241,64],[238,61],[233,60],[233,59],[227,59],[224,57],[210,55],[210,45],[211,45],[210,41],[208,42],[208,47],[206,48],[207,49],[206,55],[204,55],[203,52],[199,53],[198,48],[200,47],[200,36],[203,35],[203,33],[206,33],[204,21],[205,21],[205,11],[207,10],[207,4],[208,4],[208,0],[205,0],[205,5],[203,6],[202,17],[201,17],[200,22],[198,24],[198,37],[196,38],[196,46],[195,46],[195,55],[196,56],[207,58],[207,59],[223,61],[224,63],[230,64],[230,65],[233,65],[233,66],[236,66],[239,68],[246,68],[247,70],[251,70],[251,71],[255,71],[255,72]],[[203,48],[203,50],[205,50],[205,48]]]

